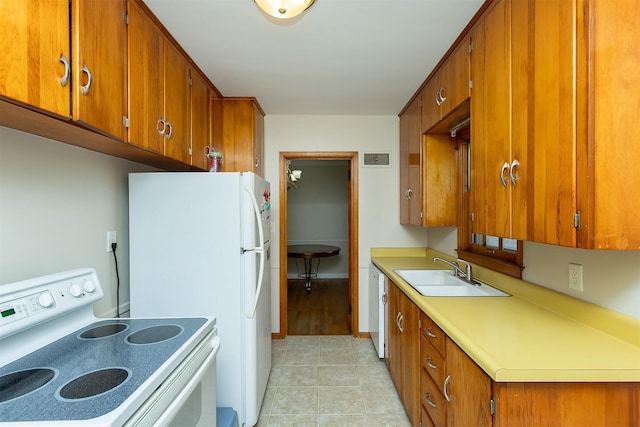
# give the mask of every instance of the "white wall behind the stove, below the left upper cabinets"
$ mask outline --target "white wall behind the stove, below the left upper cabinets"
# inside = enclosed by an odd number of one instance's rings
[[[115,315],[116,231],[121,308],[129,301],[127,174],[147,166],[0,127],[0,284],[93,267]]]

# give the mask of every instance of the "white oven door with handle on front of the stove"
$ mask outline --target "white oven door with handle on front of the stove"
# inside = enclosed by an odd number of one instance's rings
[[[211,426],[216,422],[216,331],[178,365],[124,424],[132,426]]]

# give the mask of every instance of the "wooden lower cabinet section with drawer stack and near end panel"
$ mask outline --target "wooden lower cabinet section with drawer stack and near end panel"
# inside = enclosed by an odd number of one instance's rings
[[[640,425],[640,383],[495,382],[425,313],[420,356],[423,427]]]

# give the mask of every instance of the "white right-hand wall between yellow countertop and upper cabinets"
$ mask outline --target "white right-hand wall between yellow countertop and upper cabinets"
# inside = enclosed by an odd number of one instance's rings
[[[455,256],[455,228],[429,230],[429,247]],[[640,319],[640,251],[572,249],[524,242],[523,280]],[[583,292],[569,289],[569,263],[583,266]]]

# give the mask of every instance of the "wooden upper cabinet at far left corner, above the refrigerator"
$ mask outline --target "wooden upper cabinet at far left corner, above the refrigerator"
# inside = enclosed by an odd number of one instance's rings
[[[255,98],[222,100],[222,169],[264,176],[264,112]]]

